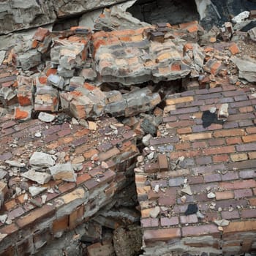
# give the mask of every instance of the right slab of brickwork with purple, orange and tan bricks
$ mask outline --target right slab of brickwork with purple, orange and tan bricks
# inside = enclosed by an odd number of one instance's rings
[[[229,104],[227,121],[203,128],[203,111],[223,103]],[[223,86],[174,94],[166,104],[150,141],[154,158],[145,152],[135,168],[145,255],[255,250],[256,94]],[[181,191],[187,185],[190,195]],[[189,204],[203,219],[185,215]],[[214,221],[222,219],[229,225],[218,227]]]

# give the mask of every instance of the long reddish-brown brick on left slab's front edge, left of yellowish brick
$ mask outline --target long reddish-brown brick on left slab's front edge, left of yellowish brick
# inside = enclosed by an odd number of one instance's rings
[[[16,220],[16,223],[19,227],[23,228],[27,225],[32,225],[34,222],[39,222],[42,218],[50,217],[54,213],[53,206],[42,206],[34,211],[29,212],[29,214],[24,217],[20,217]]]

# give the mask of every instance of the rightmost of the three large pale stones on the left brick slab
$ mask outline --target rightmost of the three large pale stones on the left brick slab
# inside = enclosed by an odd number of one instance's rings
[[[61,179],[63,181],[76,181],[76,175],[70,162],[62,165],[55,165],[49,169],[54,180]]]

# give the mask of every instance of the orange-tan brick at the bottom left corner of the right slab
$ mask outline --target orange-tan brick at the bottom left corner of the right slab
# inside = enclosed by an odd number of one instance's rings
[[[179,228],[165,228],[162,230],[145,230],[144,241],[169,241],[173,238],[181,237],[181,230]]]

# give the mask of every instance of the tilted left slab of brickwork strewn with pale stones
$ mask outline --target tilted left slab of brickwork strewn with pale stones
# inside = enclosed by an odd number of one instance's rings
[[[27,191],[34,182],[24,180],[21,172],[7,177],[12,189],[23,184],[25,191],[5,200],[1,207],[1,215],[7,214],[11,221],[0,223],[1,256],[34,254],[53,237],[88,220],[127,184],[138,156],[135,133],[115,118],[101,119],[96,126],[97,130],[89,130],[68,122],[49,124],[33,119],[18,124],[10,115],[1,118],[0,165],[22,159],[29,167],[34,151],[55,152],[63,157],[58,162],[83,165],[76,172],[76,182],[50,180],[42,185],[47,190],[34,197]],[[37,132],[40,138],[35,136]],[[45,202],[42,196],[46,196]]]

